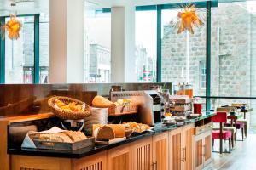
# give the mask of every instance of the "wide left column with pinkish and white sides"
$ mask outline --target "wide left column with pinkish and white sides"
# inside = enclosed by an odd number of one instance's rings
[[[84,0],[49,1],[49,82],[84,81]]]

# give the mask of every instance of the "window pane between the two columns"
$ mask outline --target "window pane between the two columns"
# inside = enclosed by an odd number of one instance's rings
[[[84,82],[110,82],[111,13],[85,14]]]

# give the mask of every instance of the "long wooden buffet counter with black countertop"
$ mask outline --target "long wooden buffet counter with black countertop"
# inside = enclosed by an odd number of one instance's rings
[[[211,162],[211,126],[214,113],[187,119],[182,126],[160,125],[150,132],[131,136],[124,141],[103,146],[86,147],[79,150],[23,149],[20,146],[3,146],[7,150],[1,160],[3,169],[201,169]],[[44,114],[36,119],[53,117]],[[26,116],[24,120],[32,120]],[[21,120],[0,120],[3,125]],[[3,132],[8,134],[8,132]],[[3,140],[3,142],[5,142]],[[4,156],[4,151],[1,151]],[[2,157],[1,157],[2,158]]]

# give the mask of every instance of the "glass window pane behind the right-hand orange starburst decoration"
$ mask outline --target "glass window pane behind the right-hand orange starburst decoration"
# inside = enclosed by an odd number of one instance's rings
[[[189,83],[194,95],[206,95],[206,24],[195,28],[194,34],[177,34],[177,14],[181,9],[162,10],[162,82]],[[206,8],[198,8],[203,20]]]

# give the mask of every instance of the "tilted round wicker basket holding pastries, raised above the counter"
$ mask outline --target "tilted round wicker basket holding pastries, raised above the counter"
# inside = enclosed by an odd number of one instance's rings
[[[63,97],[63,96],[54,96],[54,97],[50,98],[48,100],[49,107],[52,109],[55,116],[58,116],[61,119],[78,120],[78,119],[84,119],[85,117],[90,116],[90,106],[89,105],[85,105],[84,111],[80,111],[80,112],[64,111],[61,108],[55,107],[55,99],[61,100],[66,105],[69,104],[70,102],[75,102],[79,105],[83,105],[84,102],[82,102],[78,99],[72,99],[72,98]]]

